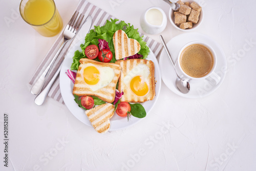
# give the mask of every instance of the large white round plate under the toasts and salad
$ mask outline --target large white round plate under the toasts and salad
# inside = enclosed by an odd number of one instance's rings
[[[68,77],[66,74],[67,70],[70,70],[71,64],[73,62],[73,56],[74,52],[76,50],[81,50],[80,45],[84,44],[84,38],[79,40],[73,47],[71,47],[68,51],[68,53],[65,56],[65,59],[62,63],[62,67],[60,70],[60,80],[59,80],[59,87],[60,87],[60,92],[61,96],[67,105],[68,109],[70,112],[81,122],[92,126],[90,121],[88,120],[86,114],[84,113],[84,110],[79,108],[77,103],[74,101],[74,95],[72,94],[73,91],[73,86],[74,83],[71,81],[71,79]],[[155,64],[155,80],[157,80],[156,83],[156,96],[153,100],[146,101],[144,103],[141,103],[146,111],[146,114],[150,114],[150,111],[152,110],[153,106],[155,105],[158,96],[160,94],[160,88],[161,88],[161,74],[160,74],[160,69],[158,65],[158,61],[154,55],[154,53],[150,50],[150,54],[148,54],[147,60],[152,60]],[[142,118],[143,119],[143,118]],[[114,116],[110,119],[110,130],[109,131],[114,131],[114,130],[120,130],[123,129],[124,127],[133,125],[140,121],[140,118],[136,118],[132,116],[129,118],[129,121],[127,121],[127,117],[120,117],[116,113]]]

